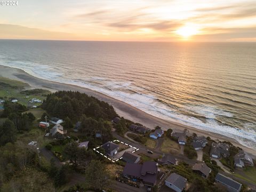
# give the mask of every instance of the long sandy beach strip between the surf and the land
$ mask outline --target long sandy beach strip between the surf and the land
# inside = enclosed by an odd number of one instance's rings
[[[204,135],[205,137],[209,136],[213,140],[230,141],[231,143],[233,143],[233,145],[244,149],[247,153],[250,153],[254,158],[256,157],[256,155],[254,155],[256,154],[256,150],[241,145],[238,141],[236,141],[233,138],[229,138],[218,133],[198,130],[195,127],[182,125],[177,122],[171,122],[162,118],[155,117],[123,101],[111,98],[108,95],[105,95],[97,91],[93,91],[93,90],[90,90],[84,87],[79,87],[76,85],[57,83],[57,82],[37,78],[26,73],[21,69],[6,67],[2,65],[0,65],[0,76],[28,83],[30,85],[29,87],[30,89],[39,88],[39,89],[46,89],[51,92],[60,91],[60,90],[65,90],[65,91],[71,90],[71,91],[79,91],[82,93],[86,93],[90,96],[98,98],[99,100],[108,102],[110,105],[112,105],[115,108],[116,113],[119,116],[121,117],[123,116],[124,118],[129,119],[135,123],[143,124],[149,127],[150,129],[154,129],[154,127],[157,125],[161,126],[163,130],[167,130],[171,128],[173,131],[183,131],[184,129],[188,129],[190,133],[196,133],[197,135]]]

